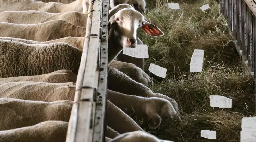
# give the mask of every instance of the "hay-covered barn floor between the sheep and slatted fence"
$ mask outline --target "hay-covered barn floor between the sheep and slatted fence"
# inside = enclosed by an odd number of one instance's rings
[[[255,81],[242,68],[216,0],[147,0],[146,17],[164,36],[139,35],[149,48],[145,72],[150,88],[175,99],[183,123],[149,131],[175,142],[240,142],[241,119],[255,116]],[[209,4],[205,12],[200,7]],[[189,73],[194,49],[204,49],[203,71]],[[148,72],[150,63],[167,68],[165,79]],[[232,99],[232,108],[210,107],[209,95]],[[200,137],[200,130],[215,130],[217,139]]]

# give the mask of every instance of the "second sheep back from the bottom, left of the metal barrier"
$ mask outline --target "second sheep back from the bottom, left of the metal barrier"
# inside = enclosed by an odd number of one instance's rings
[[[56,120],[68,122],[72,101],[42,102],[0,98],[0,131]]]

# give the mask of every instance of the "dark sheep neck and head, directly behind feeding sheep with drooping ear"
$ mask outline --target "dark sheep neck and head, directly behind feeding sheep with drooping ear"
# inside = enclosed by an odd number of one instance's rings
[[[171,102],[177,112],[179,111],[178,103],[172,98],[160,93],[153,93],[147,86],[136,82],[111,66],[108,67],[108,89],[127,95],[164,98]]]

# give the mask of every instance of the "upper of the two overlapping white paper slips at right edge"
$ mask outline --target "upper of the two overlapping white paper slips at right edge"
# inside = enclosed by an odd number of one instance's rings
[[[242,131],[256,131],[256,117],[244,117],[241,124]]]

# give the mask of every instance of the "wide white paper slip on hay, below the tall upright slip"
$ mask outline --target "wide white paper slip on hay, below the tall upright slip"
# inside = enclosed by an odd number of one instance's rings
[[[210,95],[210,105],[211,107],[231,108],[232,99],[219,95]]]

